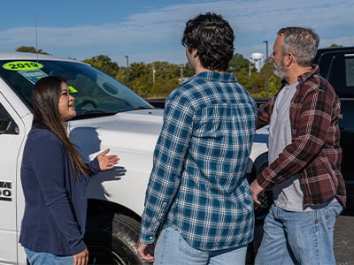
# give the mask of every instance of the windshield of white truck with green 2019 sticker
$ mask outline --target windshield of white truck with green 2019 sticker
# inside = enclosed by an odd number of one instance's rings
[[[66,79],[75,98],[76,118],[153,108],[128,87],[89,64],[75,61],[0,61],[0,75],[32,110],[32,89],[44,76]]]

